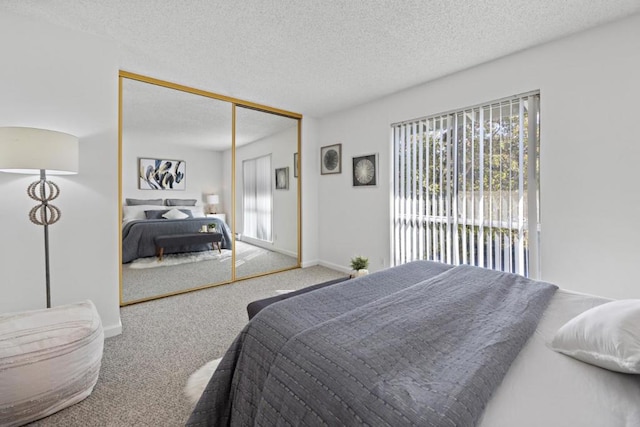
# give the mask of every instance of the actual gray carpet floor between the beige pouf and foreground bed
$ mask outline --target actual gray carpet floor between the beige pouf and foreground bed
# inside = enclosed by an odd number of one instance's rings
[[[296,269],[123,307],[123,333],[105,341],[98,383],[87,399],[34,426],[182,426],[191,412],[189,375],[221,357],[247,323],[249,302],[343,277]]]

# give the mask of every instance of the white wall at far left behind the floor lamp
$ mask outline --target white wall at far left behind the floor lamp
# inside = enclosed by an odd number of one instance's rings
[[[0,126],[80,139],[79,174],[53,177],[60,221],[49,228],[52,305],[91,299],[107,335],[118,309],[118,62],[98,38],[3,12]],[[45,307],[43,228],[28,212],[34,176],[0,173],[0,313]]]

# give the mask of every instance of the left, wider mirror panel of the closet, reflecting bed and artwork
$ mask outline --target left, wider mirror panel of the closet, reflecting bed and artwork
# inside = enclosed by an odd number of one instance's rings
[[[222,153],[231,148],[231,114],[229,102],[122,79],[123,303],[231,280],[230,232],[217,260],[217,251],[196,245],[166,248],[159,261],[153,241],[163,234],[197,233],[215,219],[207,217],[208,212],[224,212],[222,204],[207,205],[206,196],[231,187],[231,177],[222,172]],[[156,176],[171,175],[180,161],[184,176],[160,189],[161,179],[140,178],[141,168],[155,167],[141,159],[174,162]],[[128,206],[127,200],[135,205]],[[161,216],[173,208],[193,218]],[[198,261],[206,256],[212,259]]]

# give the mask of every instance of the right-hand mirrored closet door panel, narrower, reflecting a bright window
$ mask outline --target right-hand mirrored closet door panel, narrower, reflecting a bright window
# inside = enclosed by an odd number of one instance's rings
[[[236,277],[298,266],[298,120],[236,108]]]

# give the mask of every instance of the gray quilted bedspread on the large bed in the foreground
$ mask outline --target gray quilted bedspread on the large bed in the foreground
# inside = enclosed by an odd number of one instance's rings
[[[187,425],[473,426],[556,289],[418,261],[273,304]]]

